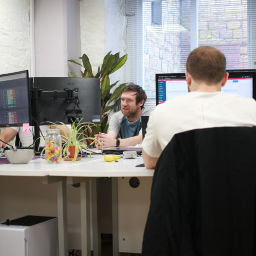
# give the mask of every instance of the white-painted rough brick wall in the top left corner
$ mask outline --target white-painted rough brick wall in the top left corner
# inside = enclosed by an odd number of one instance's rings
[[[29,0],[0,1],[0,74],[29,70]]]

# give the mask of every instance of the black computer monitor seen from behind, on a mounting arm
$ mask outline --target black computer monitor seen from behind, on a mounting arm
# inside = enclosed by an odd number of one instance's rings
[[[33,113],[38,123],[72,123],[69,117],[81,117],[82,122],[101,123],[101,95],[99,78],[34,77],[34,87],[46,91],[78,89],[78,106],[66,98],[42,97],[38,100],[37,113]],[[80,110],[81,113],[78,113]],[[74,110],[77,113],[71,113]]]

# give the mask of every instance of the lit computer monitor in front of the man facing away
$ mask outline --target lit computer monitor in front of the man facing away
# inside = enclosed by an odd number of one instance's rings
[[[222,92],[242,95],[245,98],[255,97],[256,72],[229,72],[228,80]],[[185,73],[156,74],[156,104],[164,103],[187,94]]]

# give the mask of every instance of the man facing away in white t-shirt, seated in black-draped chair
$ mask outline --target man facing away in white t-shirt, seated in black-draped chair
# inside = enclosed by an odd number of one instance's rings
[[[177,133],[223,126],[255,126],[256,101],[221,92],[228,79],[226,58],[214,47],[190,52],[186,62],[188,94],[159,104],[152,112],[142,143],[143,161],[153,169]]]

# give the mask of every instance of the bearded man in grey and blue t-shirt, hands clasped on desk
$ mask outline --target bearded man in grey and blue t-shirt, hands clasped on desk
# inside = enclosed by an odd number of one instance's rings
[[[95,135],[103,148],[115,146],[135,146],[142,142],[141,116],[149,116],[151,109],[145,109],[145,91],[136,84],[130,83],[121,93],[121,111],[110,120],[108,134]],[[120,134],[120,139],[117,139]],[[100,144],[96,146],[101,149]]]

